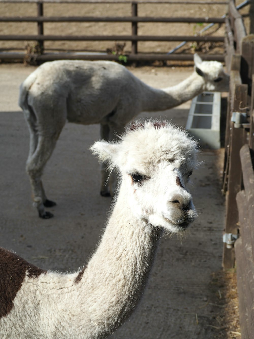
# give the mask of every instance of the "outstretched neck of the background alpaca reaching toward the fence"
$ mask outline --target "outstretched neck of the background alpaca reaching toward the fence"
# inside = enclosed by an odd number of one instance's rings
[[[204,91],[205,81],[196,72],[179,84],[157,89],[147,86],[143,111],[164,111],[178,106]]]

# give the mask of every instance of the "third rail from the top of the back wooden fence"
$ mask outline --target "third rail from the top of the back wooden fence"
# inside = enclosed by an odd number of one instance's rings
[[[0,41],[48,40],[48,41],[209,41],[223,42],[224,37],[211,36],[148,36],[148,35],[0,35]]]

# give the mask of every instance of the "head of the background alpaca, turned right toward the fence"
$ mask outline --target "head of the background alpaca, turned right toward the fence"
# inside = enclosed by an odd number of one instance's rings
[[[224,73],[221,62],[203,61],[197,54],[194,54],[194,64],[196,73],[205,81],[204,91],[228,92],[229,75]]]

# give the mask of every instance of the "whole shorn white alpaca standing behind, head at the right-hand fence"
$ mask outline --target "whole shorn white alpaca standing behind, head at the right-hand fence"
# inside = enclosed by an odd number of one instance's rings
[[[229,77],[217,61],[194,56],[193,74],[176,86],[156,89],[137,79],[124,66],[109,61],[60,60],[46,62],[20,87],[19,105],[30,131],[26,170],[33,201],[41,218],[53,215],[41,176],[66,119],[81,124],[100,123],[101,138],[110,141],[143,111],[163,111],[203,91],[227,91]],[[101,194],[109,194],[108,172],[102,164]]]

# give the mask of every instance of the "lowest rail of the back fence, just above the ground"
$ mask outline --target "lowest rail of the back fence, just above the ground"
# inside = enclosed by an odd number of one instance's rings
[[[0,60],[23,60],[27,56],[24,53],[0,53]],[[74,60],[119,60],[119,56],[111,54],[76,54],[76,53],[45,53],[43,55],[31,55],[39,61],[74,59]],[[224,61],[224,55],[201,55],[202,60]],[[128,61],[154,61],[154,60],[193,60],[193,54],[130,54]]]

